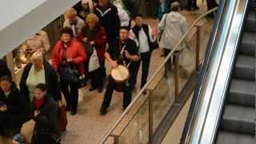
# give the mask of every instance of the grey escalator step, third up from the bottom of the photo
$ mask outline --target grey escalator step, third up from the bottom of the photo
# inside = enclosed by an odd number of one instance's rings
[[[230,93],[226,102],[230,104],[255,107],[256,83],[241,79],[232,79]]]

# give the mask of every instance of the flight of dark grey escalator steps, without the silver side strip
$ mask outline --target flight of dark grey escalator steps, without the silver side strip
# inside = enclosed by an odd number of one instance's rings
[[[252,1],[251,1],[252,2]],[[217,144],[255,144],[256,15],[249,4],[238,56],[226,97]]]

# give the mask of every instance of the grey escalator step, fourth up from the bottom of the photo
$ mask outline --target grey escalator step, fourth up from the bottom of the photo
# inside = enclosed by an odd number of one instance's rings
[[[256,58],[246,55],[239,55],[235,65],[234,77],[254,81],[255,65]]]

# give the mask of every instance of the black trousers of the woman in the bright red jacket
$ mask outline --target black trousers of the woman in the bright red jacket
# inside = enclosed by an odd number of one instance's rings
[[[66,99],[66,106],[71,106],[71,110],[78,108],[78,86],[75,83],[60,81],[61,90]]]

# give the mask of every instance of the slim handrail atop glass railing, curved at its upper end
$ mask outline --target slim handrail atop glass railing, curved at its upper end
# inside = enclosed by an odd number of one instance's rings
[[[134,98],[134,100],[130,103],[129,106],[126,107],[126,110],[124,110],[124,112],[122,113],[122,115],[118,118],[118,120],[116,122],[114,122],[114,125],[110,128],[110,130],[107,131],[107,133],[105,134],[105,136],[102,138],[102,141],[100,142],[100,144],[103,144],[104,142],[106,142],[107,138],[110,137],[110,134],[113,133],[114,129],[118,126],[118,124],[122,121],[122,119],[126,116],[126,114],[130,111],[131,107],[134,106],[135,102],[138,101],[139,98],[142,97],[142,92],[144,90],[146,90],[146,87],[150,85],[150,82],[152,82],[155,78],[155,76],[159,73],[160,70],[162,70],[162,67],[165,66],[166,62],[170,59],[170,57],[174,54],[174,52],[178,49],[178,46],[180,46],[182,44],[182,42],[186,39],[187,35],[190,33],[191,30],[193,30],[194,26],[196,26],[198,24],[198,22],[200,22],[200,20],[202,20],[202,18],[205,18],[206,15],[213,13],[214,11],[218,10],[218,7],[215,7],[212,10],[207,11],[205,14],[202,14],[201,16],[199,16],[194,22],[193,24],[189,27],[188,30],[186,30],[186,33],[182,36],[182,38],[180,38],[180,40],[178,41],[178,43],[176,44],[176,46],[174,46],[174,49],[170,51],[170,53],[166,56],[166,58],[164,59],[164,61],[162,62],[162,64],[158,67],[157,70],[155,70],[154,74],[152,75],[152,77],[150,77],[149,81],[146,82],[145,86],[142,87],[142,89],[138,92],[137,96]],[[143,95],[144,96],[144,95]]]

